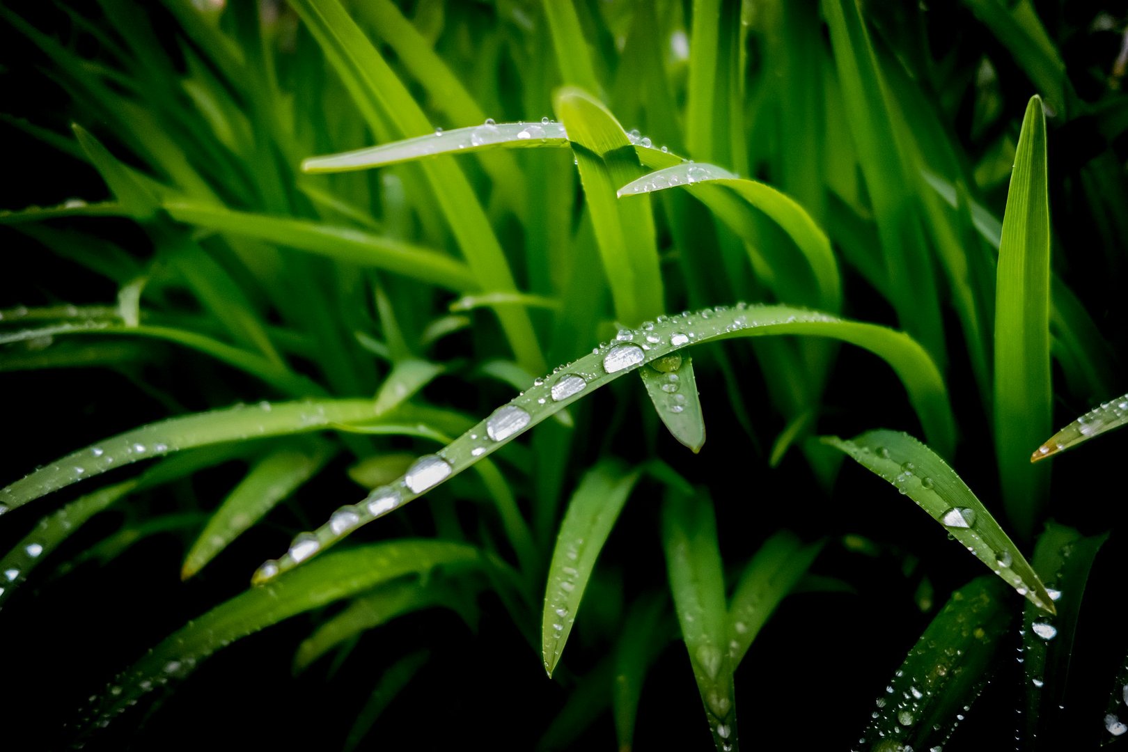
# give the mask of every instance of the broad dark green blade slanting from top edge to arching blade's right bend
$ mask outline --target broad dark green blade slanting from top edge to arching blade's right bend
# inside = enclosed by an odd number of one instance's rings
[[[857,3],[822,0],[846,122],[873,203],[890,291],[901,326],[944,368],[944,329],[932,260],[915,213],[905,158]]]

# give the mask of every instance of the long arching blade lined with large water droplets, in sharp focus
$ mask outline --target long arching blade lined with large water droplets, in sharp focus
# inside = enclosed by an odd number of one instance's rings
[[[504,446],[532,426],[596,389],[645,363],[676,353],[691,344],[711,339],[770,335],[808,335],[840,339],[864,347],[883,359],[901,379],[910,404],[917,410],[925,434],[949,451],[954,426],[943,380],[927,353],[907,335],[872,324],[847,321],[786,306],[716,307],[697,313],[662,316],[636,330],[624,330],[623,340],[603,343],[589,355],[538,379],[514,399],[494,410],[435,454],[421,457],[407,474],[378,488],[359,507],[359,519],[345,533],[325,524],[302,533],[301,556],[287,552],[266,561],[255,575],[266,582],[300,564],[318,550],[332,546],[360,524],[398,508],[431,488],[473,467],[479,459]],[[656,338],[653,342],[647,337]],[[0,496],[0,499],[3,497]]]

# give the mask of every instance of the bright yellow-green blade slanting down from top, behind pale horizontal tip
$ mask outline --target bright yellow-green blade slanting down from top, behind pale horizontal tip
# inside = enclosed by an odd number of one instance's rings
[[[433,131],[406,87],[337,0],[292,0],[291,5],[374,133],[390,130],[403,138]],[[466,176],[449,162],[423,162],[421,168],[479,287],[515,291],[505,255]],[[527,311],[502,309],[497,318],[521,365],[544,370]]]

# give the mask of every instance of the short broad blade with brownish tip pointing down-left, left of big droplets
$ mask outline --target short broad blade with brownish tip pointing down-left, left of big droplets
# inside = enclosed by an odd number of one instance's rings
[[[332,459],[334,449],[325,441],[280,446],[256,461],[188,549],[180,578],[187,580],[203,569],[232,540],[312,478]]]

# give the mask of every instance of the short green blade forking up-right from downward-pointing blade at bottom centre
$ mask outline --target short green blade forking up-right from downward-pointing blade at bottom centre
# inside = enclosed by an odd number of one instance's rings
[[[822,543],[803,545],[781,530],[756,551],[737,582],[729,602],[729,657],[740,665],[752,640],[779,602],[807,575]]]

